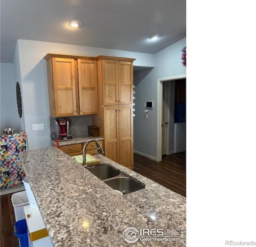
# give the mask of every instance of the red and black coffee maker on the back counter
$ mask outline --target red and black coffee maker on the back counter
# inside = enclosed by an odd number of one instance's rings
[[[55,133],[52,133],[54,140],[70,140],[73,135],[68,133],[69,121],[67,118],[54,119]]]

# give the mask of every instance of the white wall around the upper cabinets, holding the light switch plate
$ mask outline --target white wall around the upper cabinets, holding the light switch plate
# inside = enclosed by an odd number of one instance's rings
[[[46,61],[43,59],[47,53],[132,57],[136,58],[134,61],[136,66],[154,67],[155,65],[154,54],[32,40],[18,40],[16,53],[18,55],[16,55],[15,63],[20,65],[24,126],[28,133],[30,149],[50,146],[47,73]],[[17,76],[18,74],[17,69]],[[32,124],[36,123],[43,123],[45,129],[32,131]]]

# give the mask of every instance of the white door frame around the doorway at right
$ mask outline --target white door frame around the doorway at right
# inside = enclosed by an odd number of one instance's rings
[[[162,161],[162,108],[163,82],[185,79],[186,75],[176,75],[157,79],[157,112],[156,112],[156,161]]]

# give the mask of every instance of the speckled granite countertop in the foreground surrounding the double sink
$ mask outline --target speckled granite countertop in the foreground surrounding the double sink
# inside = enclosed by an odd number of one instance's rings
[[[186,229],[185,197],[102,155],[95,157],[146,187],[119,196],[56,147],[20,154],[55,247],[130,246],[122,235],[127,227],[169,229],[168,236],[178,231],[178,240],[138,239],[134,246],[185,246],[180,235],[180,229]]]

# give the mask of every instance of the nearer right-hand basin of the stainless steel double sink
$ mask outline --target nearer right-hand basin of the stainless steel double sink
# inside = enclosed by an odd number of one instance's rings
[[[124,191],[123,195],[145,188],[144,185],[136,182],[132,178],[127,177],[113,178],[104,181],[104,183],[110,186],[113,190],[119,190],[121,192]]]

